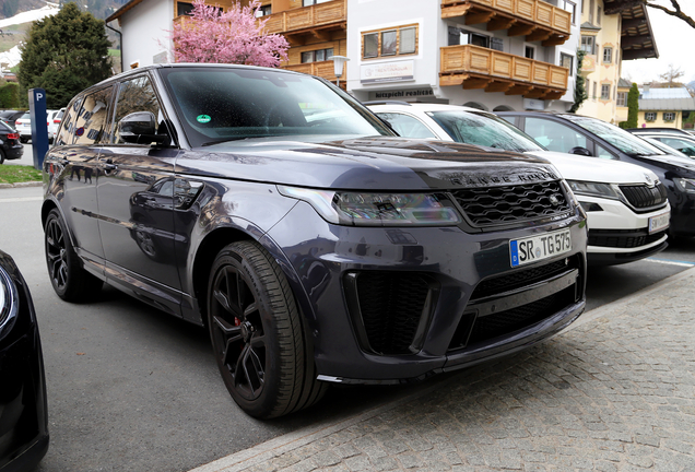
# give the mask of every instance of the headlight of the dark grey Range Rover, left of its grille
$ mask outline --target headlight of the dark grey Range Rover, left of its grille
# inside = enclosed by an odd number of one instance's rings
[[[453,226],[458,212],[440,193],[370,193],[278,186],[309,203],[329,223],[349,226]]]

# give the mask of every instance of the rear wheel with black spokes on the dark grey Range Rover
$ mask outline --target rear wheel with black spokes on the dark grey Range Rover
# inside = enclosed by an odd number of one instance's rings
[[[48,276],[58,296],[67,302],[81,302],[97,293],[103,282],[80,266],[62,216],[54,209],[44,226]]]

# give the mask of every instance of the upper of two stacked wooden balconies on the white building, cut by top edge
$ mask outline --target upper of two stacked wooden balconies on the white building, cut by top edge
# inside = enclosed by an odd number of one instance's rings
[[[441,0],[441,17],[466,17],[466,24],[485,23],[487,31],[507,30],[508,36],[557,46],[569,39],[572,13],[543,0]]]

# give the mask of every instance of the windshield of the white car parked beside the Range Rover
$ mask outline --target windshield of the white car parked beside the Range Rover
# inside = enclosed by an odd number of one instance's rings
[[[518,128],[495,116],[464,110],[429,111],[453,141],[505,151],[545,151]]]

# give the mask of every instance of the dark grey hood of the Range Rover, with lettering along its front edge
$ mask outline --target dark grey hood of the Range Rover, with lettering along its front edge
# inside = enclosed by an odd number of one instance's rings
[[[321,139],[326,137],[264,138],[197,148],[179,154],[176,172],[346,190],[494,187],[561,178],[542,158],[467,144],[390,137]]]

